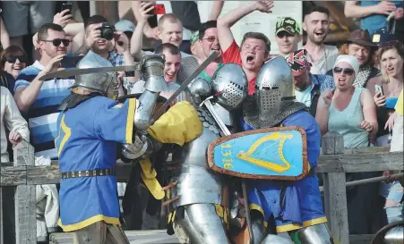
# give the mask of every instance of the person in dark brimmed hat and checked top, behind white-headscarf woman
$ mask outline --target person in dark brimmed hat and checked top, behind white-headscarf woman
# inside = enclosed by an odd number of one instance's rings
[[[359,63],[359,71],[354,81],[354,87],[366,88],[367,82],[382,73],[374,67],[373,56],[377,46],[372,42],[367,29],[356,29],[349,33],[348,43],[340,48],[340,55],[353,55]],[[327,72],[332,75],[332,70]]]

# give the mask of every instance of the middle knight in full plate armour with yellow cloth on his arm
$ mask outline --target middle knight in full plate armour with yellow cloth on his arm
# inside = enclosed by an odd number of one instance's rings
[[[148,130],[150,138],[158,143],[181,146],[174,150],[172,163],[165,170],[169,174],[163,203],[169,210],[168,233],[175,232],[181,242],[230,243],[226,230],[227,181],[209,169],[206,152],[214,139],[223,136],[220,128],[231,130],[229,112],[245,101],[247,80],[238,65],[229,63],[214,74],[211,83],[196,79],[189,90],[192,105],[186,101],[177,103]],[[215,116],[223,123],[219,124]],[[185,117],[188,122],[183,125]],[[196,137],[186,139],[189,134]],[[133,157],[128,150],[125,156]]]

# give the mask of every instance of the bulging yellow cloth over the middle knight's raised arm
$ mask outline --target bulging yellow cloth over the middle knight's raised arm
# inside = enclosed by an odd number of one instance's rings
[[[183,101],[161,115],[147,131],[160,143],[175,143],[183,146],[185,142],[190,142],[201,135],[202,122],[193,105]]]

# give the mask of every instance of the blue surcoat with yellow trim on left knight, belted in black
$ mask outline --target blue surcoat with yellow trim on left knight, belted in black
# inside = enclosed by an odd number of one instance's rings
[[[60,172],[116,167],[116,143],[133,143],[136,100],[125,104],[92,97],[59,115],[55,140]],[[60,219],[64,231],[104,221],[119,225],[116,176],[82,177],[60,181]]]

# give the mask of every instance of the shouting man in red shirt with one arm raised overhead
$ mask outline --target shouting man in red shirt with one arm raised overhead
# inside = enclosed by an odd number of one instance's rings
[[[254,1],[236,8],[218,20],[218,36],[221,50],[223,50],[223,63],[237,63],[243,68],[248,79],[249,95],[254,94],[255,79],[262,64],[269,58],[271,42],[260,32],[247,32],[241,46],[238,46],[230,28],[236,21],[255,10],[271,13],[272,7],[273,1]]]

